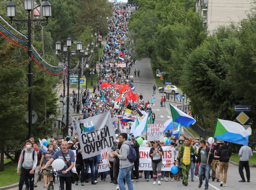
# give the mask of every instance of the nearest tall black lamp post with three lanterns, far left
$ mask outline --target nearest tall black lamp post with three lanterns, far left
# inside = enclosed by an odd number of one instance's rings
[[[42,15],[46,17],[46,19],[31,19],[30,12],[34,10],[34,0],[24,0],[24,10],[28,11],[28,19],[12,19],[15,17],[15,4],[10,0],[7,4],[7,16],[10,17],[11,22],[20,22],[25,21],[28,22],[28,57],[29,57],[29,64],[28,64],[28,87],[30,91],[28,93],[28,138],[33,138],[33,130],[32,130],[32,49],[31,49],[31,22],[34,21],[47,21],[48,18],[52,16],[52,5],[45,1],[42,4]]]

